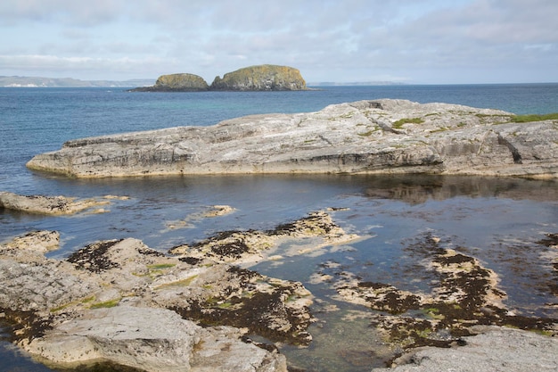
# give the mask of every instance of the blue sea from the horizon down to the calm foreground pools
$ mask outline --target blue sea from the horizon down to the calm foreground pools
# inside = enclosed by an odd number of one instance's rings
[[[369,371],[390,355],[370,327],[371,310],[339,301],[331,284],[342,271],[425,293],[428,274],[412,247],[425,236],[478,258],[493,269],[505,306],[524,315],[558,318],[558,255],[539,242],[558,233],[558,182],[522,178],[371,175],[229,175],[76,179],[30,171],[37,153],[65,141],[177,126],[210,126],[268,112],[315,112],[334,103],[381,98],[458,103],[515,114],[558,112],[558,83],[506,85],[388,85],[314,87],[296,92],[131,93],[125,88],[0,87],[0,191],[17,194],[103,195],[105,213],[70,217],[0,209],[0,243],[33,230],[57,230],[63,259],[86,244],[134,237],[160,252],[224,230],[272,229],[312,211],[328,210],[353,244],[308,254],[279,247],[282,260],[250,268],[302,282],[315,296],[317,321],[307,348],[279,345],[291,366],[307,371]],[[234,213],[191,219],[212,205]],[[188,221],[176,224],[176,221]],[[170,225],[181,228],[168,228]],[[335,269],[341,268],[341,269]],[[337,270],[337,271],[336,271]],[[1,285],[1,284],[0,284]],[[553,292],[554,285],[554,292]],[[53,371],[9,341],[0,327],[0,371]]]

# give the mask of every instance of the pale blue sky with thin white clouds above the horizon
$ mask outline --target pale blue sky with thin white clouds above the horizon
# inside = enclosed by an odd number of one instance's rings
[[[558,82],[557,0],[2,0],[0,76]]]

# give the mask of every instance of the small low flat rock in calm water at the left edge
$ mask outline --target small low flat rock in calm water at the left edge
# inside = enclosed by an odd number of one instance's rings
[[[101,206],[110,204],[110,199],[113,198],[117,198],[117,196],[78,200],[62,195],[20,195],[0,192],[0,208],[28,213],[62,215],[99,207],[95,211],[100,213],[105,211]]]

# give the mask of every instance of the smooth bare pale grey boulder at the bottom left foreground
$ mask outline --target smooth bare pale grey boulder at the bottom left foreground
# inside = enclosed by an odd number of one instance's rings
[[[171,310],[124,305],[84,311],[26,348],[65,367],[111,360],[153,372],[286,372],[283,355],[241,336],[238,328],[200,327]]]

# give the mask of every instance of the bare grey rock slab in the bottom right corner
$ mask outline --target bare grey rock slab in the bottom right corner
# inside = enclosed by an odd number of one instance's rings
[[[396,360],[394,368],[373,372],[558,370],[558,339],[500,327],[478,327],[481,335],[464,337],[464,346],[415,350]]]

